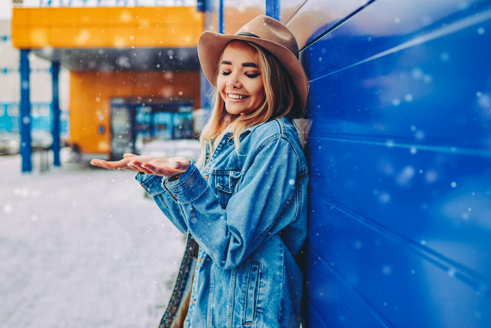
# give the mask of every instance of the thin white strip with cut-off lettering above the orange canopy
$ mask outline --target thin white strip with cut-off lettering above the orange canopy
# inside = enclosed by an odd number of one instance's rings
[[[196,6],[196,0],[12,0],[16,7],[174,7]]]

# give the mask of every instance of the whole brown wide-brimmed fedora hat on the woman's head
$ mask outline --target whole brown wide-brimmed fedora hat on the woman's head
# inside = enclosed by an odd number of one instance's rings
[[[302,108],[307,104],[308,84],[299,62],[299,46],[293,33],[277,20],[260,15],[240,28],[235,34],[204,31],[198,40],[198,58],[203,72],[216,87],[218,61],[228,42],[244,40],[255,43],[276,57],[290,74],[300,97]]]

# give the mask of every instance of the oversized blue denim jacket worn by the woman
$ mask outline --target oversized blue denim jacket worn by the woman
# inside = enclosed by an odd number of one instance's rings
[[[190,235],[161,327],[173,327],[185,290],[184,327],[299,327],[295,256],[306,237],[308,169],[291,119],[247,129],[239,151],[225,134],[213,152],[207,147],[204,163],[200,170],[191,162],[174,181],[136,177]]]

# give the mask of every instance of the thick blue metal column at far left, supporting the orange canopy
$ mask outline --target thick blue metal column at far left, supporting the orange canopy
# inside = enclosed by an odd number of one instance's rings
[[[30,136],[30,84],[29,84],[29,55],[30,50],[21,49],[20,73],[21,73],[21,156],[22,172],[32,171],[31,161],[31,136]]]

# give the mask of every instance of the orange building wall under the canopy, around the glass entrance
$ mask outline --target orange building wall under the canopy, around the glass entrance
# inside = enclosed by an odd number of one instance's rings
[[[199,107],[199,72],[70,73],[70,143],[109,154],[109,101],[115,97],[191,97]],[[99,133],[99,126],[105,132]]]

